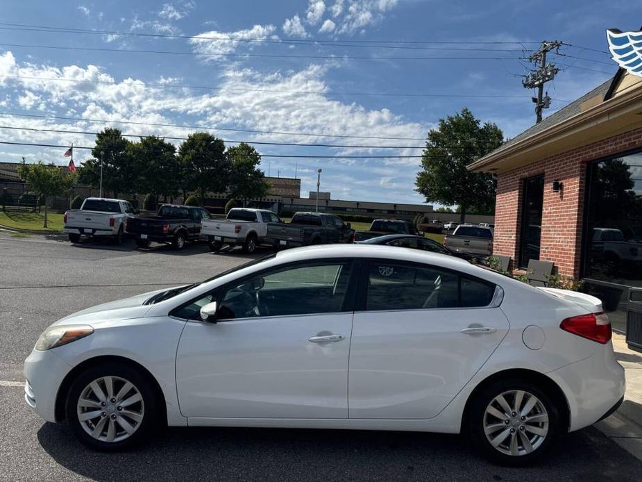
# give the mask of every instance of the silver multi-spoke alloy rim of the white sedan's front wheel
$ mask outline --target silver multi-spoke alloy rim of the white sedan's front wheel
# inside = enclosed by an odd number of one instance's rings
[[[138,388],[119,376],[102,376],[89,383],[76,404],[78,422],[92,438],[120,442],[142,424],[145,404]]]

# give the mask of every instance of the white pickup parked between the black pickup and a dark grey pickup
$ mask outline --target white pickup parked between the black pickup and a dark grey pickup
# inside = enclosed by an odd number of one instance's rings
[[[263,244],[268,223],[282,221],[267,209],[233,208],[225,219],[203,219],[201,233],[208,237],[214,252],[225,245],[241,245],[244,252],[253,253],[259,244]]]

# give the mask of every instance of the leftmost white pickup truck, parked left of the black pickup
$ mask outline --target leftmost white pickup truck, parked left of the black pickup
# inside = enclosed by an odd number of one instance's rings
[[[104,199],[88,197],[80,209],[65,213],[65,233],[69,241],[78,242],[81,236],[110,236],[120,244],[123,241],[125,223],[136,211],[128,201],[123,199]]]

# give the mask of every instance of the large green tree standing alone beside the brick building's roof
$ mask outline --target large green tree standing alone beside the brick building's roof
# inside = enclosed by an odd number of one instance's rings
[[[439,128],[428,133],[416,191],[426,201],[459,205],[459,222],[466,213],[492,213],[496,181],[490,174],[469,172],[466,167],[502,144],[501,129],[491,122],[483,126],[471,110],[439,119]]]

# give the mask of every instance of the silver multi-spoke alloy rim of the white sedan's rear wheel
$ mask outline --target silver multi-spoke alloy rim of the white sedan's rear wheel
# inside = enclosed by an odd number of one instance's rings
[[[548,412],[525,390],[502,392],[484,412],[484,434],[491,447],[509,456],[536,451],[548,435]]]

